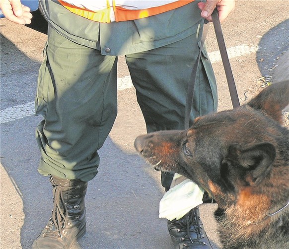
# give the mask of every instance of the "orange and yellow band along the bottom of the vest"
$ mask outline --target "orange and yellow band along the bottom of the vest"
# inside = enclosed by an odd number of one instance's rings
[[[184,6],[194,0],[178,0],[175,2],[160,5],[157,7],[151,7],[147,9],[137,9],[137,10],[131,10],[131,9],[126,9],[124,7],[115,6],[115,1],[113,1],[113,9],[112,9],[110,7],[109,1],[107,1],[108,3],[107,7],[98,11],[92,11],[89,9],[80,8],[70,3],[67,3],[63,0],[58,0],[58,1],[60,2],[61,5],[63,5],[65,8],[67,8],[74,14],[80,15],[89,20],[108,23],[108,22],[111,22],[110,11],[114,11],[116,22],[129,21],[129,20],[136,20],[136,19],[141,19],[144,17],[164,13],[166,11]]]

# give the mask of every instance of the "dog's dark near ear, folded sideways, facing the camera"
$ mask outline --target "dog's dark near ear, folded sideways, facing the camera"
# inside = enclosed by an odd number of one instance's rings
[[[250,186],[256,186],[270,173],[276,149],[269,142],[256,143],[246,148],[232,144],[229,146],[227,157],[232,164],[242,167],[243,180]]]

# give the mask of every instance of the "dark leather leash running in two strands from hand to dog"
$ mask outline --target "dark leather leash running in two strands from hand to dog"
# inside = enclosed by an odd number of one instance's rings
[[[223,38],[223,33],[222,33],[221,24],[220,24],[219,17],[218,17],[217,8],[215,8],[215,10],[212,13],[212,19],[213,19],[214,29],[215,29],[215,33],[216,33],[216,38],[217,38],[217,44],[218,44],[219,51],[221,54],[221,59],[223,62],[225,75],[226,75],[226,79],[227,79],[227,83],[228,83],[228,87],[229,87],[232,105],[233,105],[233,108],[236,108],[236,107],[240,106],[240,102],[239,102],[239,97],[238,97],[238,93],[237,93],[231,65],[229,62],[224,38]],[[194,98],[194,88],[195,88],[197,69],[198,69],[198,65],[199,65],[200,60],[201,60],[202,49],[203,49],[203,45],[205,43],[205,39],[206,39],[206,36],[208,33],[209,24],[210,23],[205,19],[204,24],[203,24],[200,52],[199,52],[197,60],[196,60],[194,66],[193,66],[193,69],[192,69],[192,74],[190,77],[190,82],[192,82],[192,83],[189,84],[188,89],[187,89],[186,108],[185,108],[185,128],[186,129],[189,128],[189,126],[190,126],[190,124],[189,124],[190,123],[190,113],[191,113],[191,108],[192,108],[192,103],[193,103],[193,98]],[[200,25],[200,26],[201,26],[200,27],[200,30],[201,30],[202,25]],[[200,32],[200,30],[199,30],[199,32]],[[200,35],[200,33],[199,33],[199,35]]]

